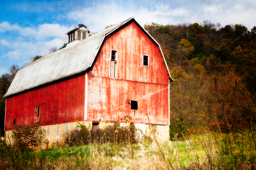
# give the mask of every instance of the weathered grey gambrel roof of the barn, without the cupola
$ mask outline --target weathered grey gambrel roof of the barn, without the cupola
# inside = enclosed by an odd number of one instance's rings
[[[19,70],[5,94],[5,97],[86,71],[92,66],[105,37],[112,35],[119,28],[125,26],[126,23],[133,21],[160,47],[154,38],[132,17],[114,26],[108,27],[72,46],[62,48],[61,50],[46,55]],[[165,62],[164,57],[163,60]],[[169,74],[166,62],[165,66]],[[169,80],[173,81],[170,74]]]

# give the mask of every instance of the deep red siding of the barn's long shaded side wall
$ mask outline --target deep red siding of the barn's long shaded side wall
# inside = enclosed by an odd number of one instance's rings
[[[6,99],[6,130],[34,124],[35,106],[40,105],[40,125],[84,119],[85,76],[62,81]]]

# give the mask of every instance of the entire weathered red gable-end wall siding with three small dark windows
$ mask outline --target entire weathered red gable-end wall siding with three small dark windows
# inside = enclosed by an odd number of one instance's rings
[[[113,77],[111,50],[117,51],[116,79]],[[88,72],[88,119],[132,121],[168,125],[168,72],[159,47],[132,22],[105,40],[102,50]],[[149,56],[143,66],[142,56]],[[112,74],[112,76],[111,76]],[[127,100],[138,101],[138,110]]]

